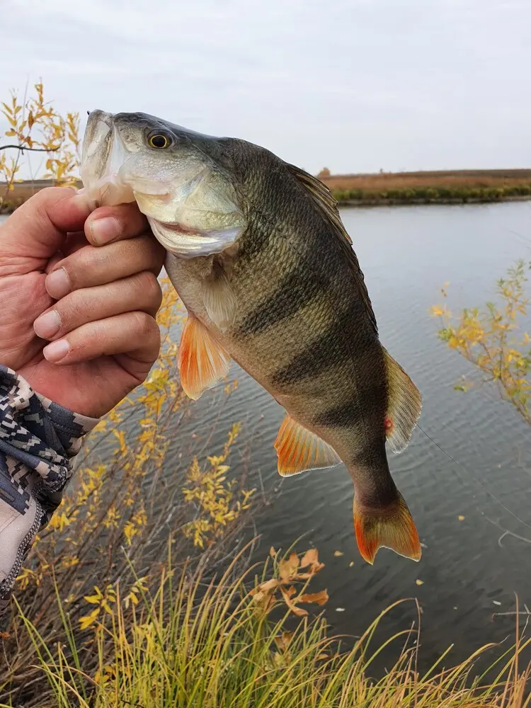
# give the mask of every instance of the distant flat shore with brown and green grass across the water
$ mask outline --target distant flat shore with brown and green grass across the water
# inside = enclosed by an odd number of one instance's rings
[[[484,204],[520,202],[531,199],[531,169],[455,170],[426,172],[378,172],[318,175],[342,207],[397,206],[422,204]],[[25,180],[6,194],[0,182],[0,213],[9,213],[51,180]],[[81,188],[81,181],[77,182]]]

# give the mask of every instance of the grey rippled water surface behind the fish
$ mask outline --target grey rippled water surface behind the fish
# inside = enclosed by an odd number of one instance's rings
[[[386,549],[375,566],[360,559],[353,536],[353,489],[342,466],[282,481],[272,506],[257,520],[262,537],[256,559],[265,557],[271,545],[287,549],[304,535],[298,549],[314,544],[326,563],[314,590],[328,589],[326,617],[336,632],[359,635],[395,600],[418,598],[423,665],[454,642],[451,656],[457,661],[513,633],[513,617],[493,620],[492,615],[513,611],[515,593],[520,603],[531,605],[531,544],[507,535],[498,543],[504,529],[531,538],[531,528],[510,513],[531,526],[531,433],[490,385],[465,395],[453,390],[470,367],[438,341],[437,321],[428,309],[441,302],[439,289],[448,280],[450,307],[482,304],[493,297],[496,279],[508,265],[520,257],[531,260],[531,202],[382,207],[344,210],[342,216],[365,273],[382,343],[421,389],[423,429],[460,467],[418,430],[405,452],[389,452],[392,474],[425,544],[419,564]],[[242,421],[243,442],[232,455],[232,469],[249,475],[247,486],[271,490],[280,484],[273,440],[282,410],[236,365],[232,375],[239,388],[221,411],[213,405],[215,392],[190,406],[167,464],[171,469],[187,457],[190,435],[210,435],[215,426],[209,440],[200,440],[212,452],[232,423]],[[335,556],[336,551],[343,555]],[[411,601],[395,608],[382,632],[407,629],[413,619]]]

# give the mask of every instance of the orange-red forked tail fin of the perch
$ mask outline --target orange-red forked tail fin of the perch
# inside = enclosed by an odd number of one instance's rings
[[[371,565],[381,546],[413,561],[421,559],[421,542],[415,522],[404,497],[399,491],[397,494],[396,501],[380,509],[363,506],[354,498],[354,530],[358,549],[362,558]]]

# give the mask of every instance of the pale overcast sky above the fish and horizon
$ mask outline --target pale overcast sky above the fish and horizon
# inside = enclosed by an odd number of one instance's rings
[[[530,0],[0,0],[0,46],[1,99],[42,76],[314,173],[531,167]]]

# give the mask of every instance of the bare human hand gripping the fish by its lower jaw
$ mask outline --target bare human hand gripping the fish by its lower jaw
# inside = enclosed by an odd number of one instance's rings
[[[90,214],[72,189],[41,190],[0,227],[0,364],[67,409],[107,413],[159,355],[163,261],[135,204]]]

